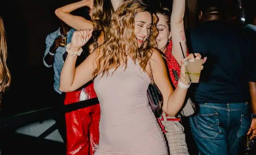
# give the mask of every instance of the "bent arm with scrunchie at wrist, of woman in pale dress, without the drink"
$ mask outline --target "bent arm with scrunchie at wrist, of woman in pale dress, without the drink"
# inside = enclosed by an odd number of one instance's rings
[[[75,31],[72,36],[70,50],[75,52],[83,47],[92,36],[92,30]],[[92,52],[78,67],[75,68],[76,56],[71,53],[67,54],[66,60],[61,70],[60,90],[63,92],[74,91],[92,78],[92,73],[96,68],[95,57],[100,48]]]

